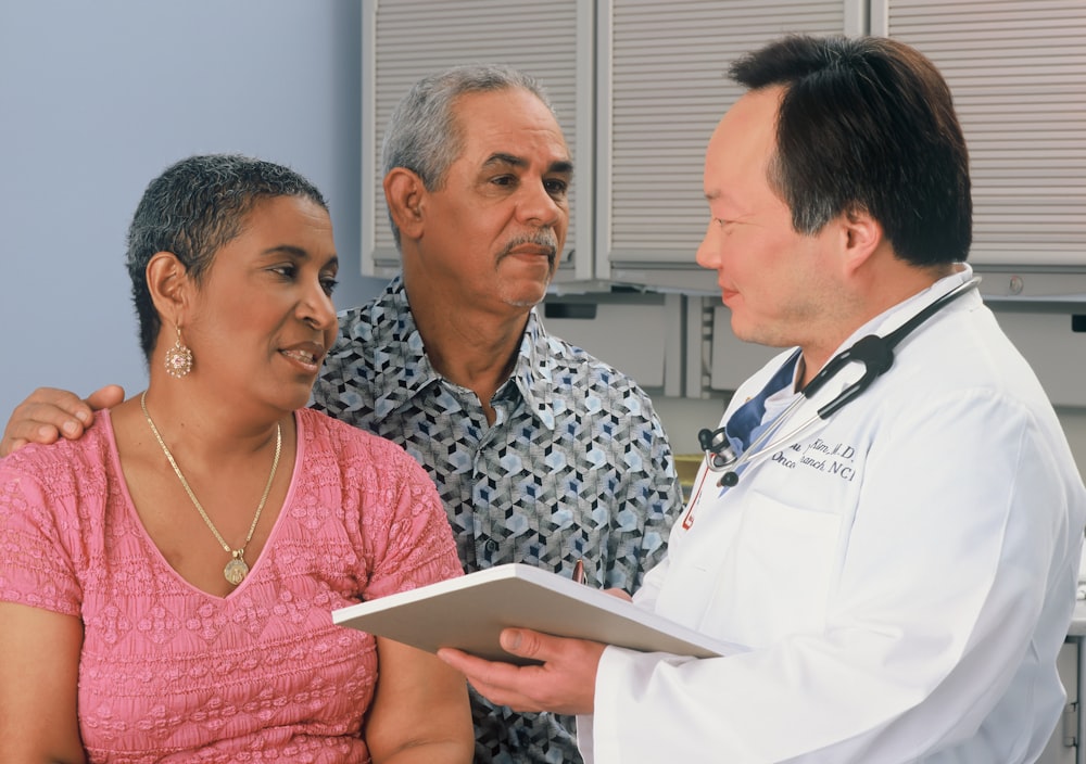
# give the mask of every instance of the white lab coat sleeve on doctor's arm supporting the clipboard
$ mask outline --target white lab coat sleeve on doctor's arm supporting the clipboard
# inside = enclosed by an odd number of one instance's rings
[[[596,764],[710,751],[735,763],[912,761],[971,738],[1035,634],[1065,629],[1038,627],[1063,617],[1043,604],[1062,585],[1069,534],[1082,533],[1069,527],[1051,432],[985,391],[930,400],[884,429],[824,629],[719,659],[608,648]]]

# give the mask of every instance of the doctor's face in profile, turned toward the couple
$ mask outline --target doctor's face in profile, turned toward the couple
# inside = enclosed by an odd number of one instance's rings
[[[769,183],[782,93],[746,93],[714,131],[705,157],[709,227],[697,249],[697,264],[717,271],[735,335],[776,347],[806,344],[833,294],[826,237],[795,231]]]

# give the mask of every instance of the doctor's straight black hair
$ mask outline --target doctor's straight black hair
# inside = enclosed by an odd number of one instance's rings
[[[769,181],[792,225],[815,234],[866,211],[901,259],[964,260],[972,241],[969,153],[950,88],[919,51],[883,37],[793,35],[729,69],[785,89]]]

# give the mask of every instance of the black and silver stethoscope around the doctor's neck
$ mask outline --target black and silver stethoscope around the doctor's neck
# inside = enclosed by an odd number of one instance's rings
[[[807,383],[807,385],[799,392],[799,395],[796,396],[796,399],[788,404],[787,408],[785,408],[780,416],[776,417],[773,423],[766,428],[766,430],[758,435],[753,443],[750,443],[743,454],[738,456],[735,455],[735,449],[728,441],[728,435],[725,433],[727,426],[718,428],[716,430],[702,430],[698,432],[697,441],[702,445],[702,450],[705,451],[705,460],[708,468],[714,472],[723,472],[718,485],[732,487],[740,481],[738,471],[742,467],[780,450],[782,446],[795,441],[799,437],[799,435],[805,433],[818,422],[825,421],[833,413],[839,411],[844,406],[856,398],[856,396],[870,387],[871,383],[874,382],[877,377],[885,373],[886,370],[893,366],[894,347],[896,347],[901,340],[904,340],[921,323],[946,307],[947,304],[962,296],[967,292],[976,289],[976,285],[980,282],[981,277],[974,276],[969,281],[958,284],[938,300],[935,300],[930,305],[925,306],[922,310],[917,313],[915,316],[910,318],[886,336],[868,334],[867,336],[857,340],[856,344],[851,347],[848,347],[835,355],[824,367],[822,367],[821,371],[815,374],[815,378]],[[833,400],[818,409],[818,411],[816,411],[810,419],[806,420],[781,437],[772,441],[768,445],[765,445],[767,441],[781,431],[782,426],[787,423],[787,421],[792,418],[792,415],[797,408],[799,408],[799,406],[809,400],[811,396],[825,386],[826,382],[829,382],[837,374],[837,372],[849,364],[863,364],[863,375],[856,380],[856,382],[853,382],[850,385],[845,387],[845,390],[843,390]]]

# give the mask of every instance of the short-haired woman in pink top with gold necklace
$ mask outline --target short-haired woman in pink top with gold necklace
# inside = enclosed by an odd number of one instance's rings
[[[421,467],[304,408],[337,329],[319,191],[179,162],[128,268],[146,393],[0,460],[0,761],[469,762],[463,677],[331,622],[460,565]]]

